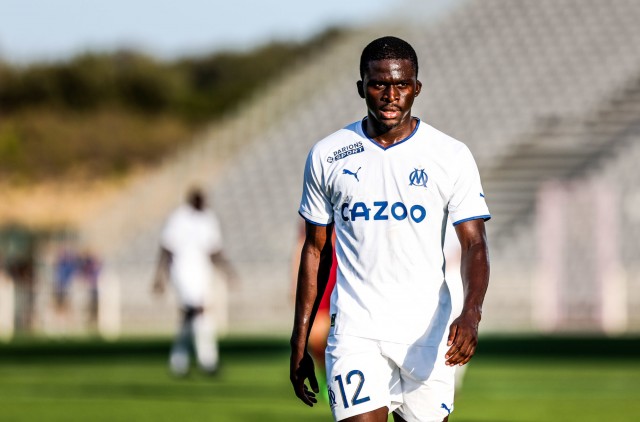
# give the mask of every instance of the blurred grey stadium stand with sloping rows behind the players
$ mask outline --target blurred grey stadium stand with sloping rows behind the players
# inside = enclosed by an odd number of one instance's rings
[[[123,328],[173,328],[174,314],[158,312],[172,304],[154,303],[149,283],[162,221],[197,182],[211,195],[243,279],[230,296],[230,329],[288,330],[304,159],[314,142],[363,116],[355,91],[359,53],[372,38],[393,33],[421,59],[424,89],[415,114],[469,145],[484,179],[493,271],[483,328],[607,329],[599,289],[608,278],[594,275],[601,259],[588,247],[598,238],[580,229],[597,224],[590,213],[597,204],[587,195],[597,179],[622,202],[609,207],[619,222],[612,241],[624,274],[611,297],[626,289],[628,312],[613,330],[640,330],[639,21],[640,2],[633,0],[476,0],[428,24],[405,18],[346,36],[282,75],[82,228],[126,291]],[[545,311],[535,293],[540,248],[562,239],[540,240],[537,204],[553,180],[563,184],[565,199],[583,207],[564,217],[563,241],[571,246],[563,252],[564,284],[546,291],[562,309],[543,323],[535,316]]]

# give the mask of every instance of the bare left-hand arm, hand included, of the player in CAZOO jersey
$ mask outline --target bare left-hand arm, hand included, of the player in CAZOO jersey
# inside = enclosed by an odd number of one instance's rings
[[[317,402],[314,393],[319,390],[313,360],[307,352],[307,343],[331,271],[332,231],[333,224],[320,226],[307,222],[300,254],[289,377],[296,396],[308,406]],[[305,385],[306,379],[309,379],[309,386],[313,391]]]

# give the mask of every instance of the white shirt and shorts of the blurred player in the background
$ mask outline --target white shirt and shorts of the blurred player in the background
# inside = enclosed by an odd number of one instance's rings
[[[179,207],[167,220],[160,243],[172,254],[171,279],[180,302],[204,306],[213,275],[210,257],[222,248],[215,214],[187,205]]]

